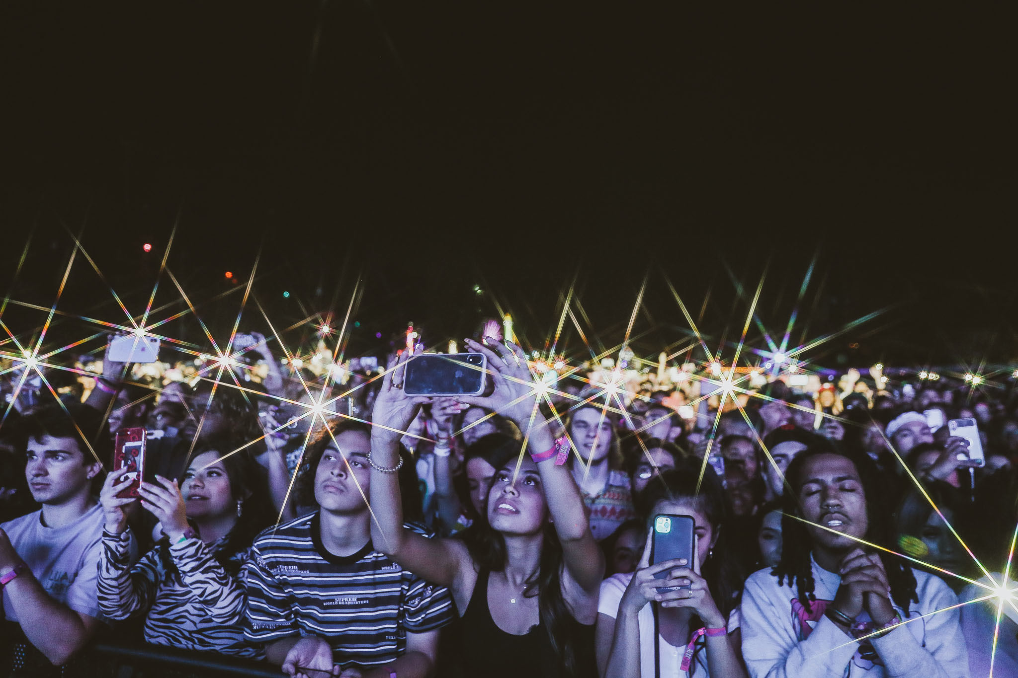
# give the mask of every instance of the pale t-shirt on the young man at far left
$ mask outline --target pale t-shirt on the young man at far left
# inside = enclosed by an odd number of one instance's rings
[[[55,601],[90,617],[99,612],[99,558],[103,554],[103,508],[98,503],[81,517],[62,528],[43,525],[42,510],[0,525],[17,555]],[[8,621],[17,616],[3,594]]]

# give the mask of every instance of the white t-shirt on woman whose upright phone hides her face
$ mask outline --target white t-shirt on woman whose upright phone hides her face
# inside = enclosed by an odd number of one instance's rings
[[[632,580],[632,574],[613,574],[601,582],[601,598],[598,600],[598,612],[616,619],[619,614],[619,604],[622,602],[622,595],[626,592],[626,587]],[[644,605],[636,615],[636,623],[639,626],[639,663],[641,678],[655,678],[654,676],[654,610],[649,605]],[[739,627],[738,610],[732,610],[728,616],[728,631],[731,633]],[[661,653],[661,678],[684,678],[688,674],[681,669],[682,656],[686,652],[686,646],[676,648],[669,644],[663,636],[658,637],[658,649]],[[706,668],[706,641],[703,636],[696,640],[696,652],[690,668],[692,674],[697,678],[709,677],[711,674]]]

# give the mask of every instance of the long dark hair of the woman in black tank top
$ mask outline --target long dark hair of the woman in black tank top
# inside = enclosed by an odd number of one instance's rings
[[[505,469],[507,467],[503,467]],[[492,478],[492,484],[498,477]],[[488,491],[491,493],[492,484]],[[477,520],[471,526],[476,531],[469,540],[464,540],[473,562],[480,569],[489,572],[500,572],[506,566],[506,541],[502,533],[494,530],[487,519]],[[538,597],[538,608],[541,614],[541,626],[552,645],[552,651],[559,657],[559,675],[574,676],[576,672],[576,650],[566,638],[570,637],[568,624],[572,613],[562,597],[562,544],[555,532],[555,526],[547,522],[542,530],[541,559],[538,569],[526,581],[526,598]]]

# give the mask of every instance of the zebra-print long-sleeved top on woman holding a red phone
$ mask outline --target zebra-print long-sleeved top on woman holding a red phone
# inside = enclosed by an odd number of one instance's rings
[[[245,602],[242,582],[227,574],[214,557],[226,539],[209,545],[200,539],[159,544],[131,567],[130,531],[113,535],[104,530],[99,609],[115,620],[148,610],[148,642],[263,658],[260,649],[244,641],[239,624]],[[160,552],[167,548],[176,571],[163,565]],[[241,551],[231,560],[242,568],[248,553]]]

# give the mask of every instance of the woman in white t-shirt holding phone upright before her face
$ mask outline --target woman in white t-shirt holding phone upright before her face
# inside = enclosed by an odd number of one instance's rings
[[[639,568],[601,584],[598,669],[602,678],[746,676],[739,654],[741,577],[718,548],[726,499],[714,470],[683,464],[647,483],[639,503],[649,507]],[[656,516],[688,517],[692,531],[678,551],[689,557],[652,563]],[[674,531],[678,533],[678,530]],[[657,536],[661,536],[660,534]],[[691,560],[690,560],[691,557]],[[664,576],[663,576],[664,575]]]

